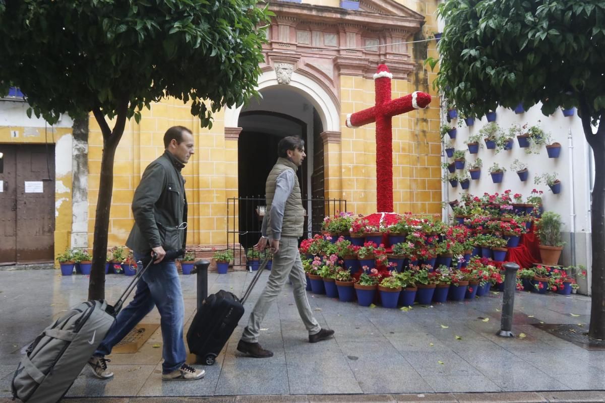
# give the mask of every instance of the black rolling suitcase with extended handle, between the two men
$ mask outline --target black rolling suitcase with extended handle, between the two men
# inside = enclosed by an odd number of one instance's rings
[[[267,254],[268,255],[268,254]],[[241,300],[229,291],[221,289],[208,295],[195,313],[187,332],[189,352],[203,357],[202,364],[212,365],[244,315],[244,302],[258,282],[269,262],[265,257]]]

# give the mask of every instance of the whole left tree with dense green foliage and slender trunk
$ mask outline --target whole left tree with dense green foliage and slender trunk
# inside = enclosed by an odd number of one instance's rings
[[[90,298],[103,265],[113,162],[126,120],[165,97],[191,101],[201,126],[257,95],[264,27],[257,0],[0,0],[0,95],[18,86],[28,114],[54,123],[92,111],[103,133]],[[106,118],[115,119],[113,129]]]

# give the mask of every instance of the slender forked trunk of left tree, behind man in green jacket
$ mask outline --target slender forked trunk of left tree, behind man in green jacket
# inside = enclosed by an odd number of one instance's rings
[[[94,216],[93,265],[88,283],[88,300],[105,299],[105,265],[107,257],[107,233],[110,226],[111,195],[113,194],[113,164],[117,145],[120,143],[126,124],[128,102],[122,102],[118,108],[116,126],[113,131],[105,121],[105,115],[99,108],[93,110],[94,117],[103,133],[103,155],[97,211]]]

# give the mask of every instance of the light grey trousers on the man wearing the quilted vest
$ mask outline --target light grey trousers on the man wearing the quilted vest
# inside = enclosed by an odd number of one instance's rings
[[[273,256],[273,265],[267,285],[250,313],[250,318],[241,335],[241,340],[248,343],[258,343],[263,318],[269,311],[275,298],[280,294],[284,284],[286,284],[288,276],[290,276],[290,281],[294,288],[296,308],[298,308],[298,314],[301,316],[304,326],[309,330],[310,335],[317,334],[321,330],[319,323],[313,317],[309,300],[307,299],[307,280],[302,270],[301,256],[298,253],[298,239],[293,236],[283,236],[280,239],[280,250]]]

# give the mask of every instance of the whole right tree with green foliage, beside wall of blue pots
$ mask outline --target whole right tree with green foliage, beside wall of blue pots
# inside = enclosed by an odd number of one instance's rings
[[[520,102],[545,115],[578,108],[595,157],[589,334],[605,338],[605,2],[446,0],[438,14],[435,84],[463,115]]]

